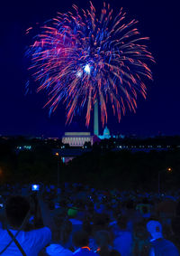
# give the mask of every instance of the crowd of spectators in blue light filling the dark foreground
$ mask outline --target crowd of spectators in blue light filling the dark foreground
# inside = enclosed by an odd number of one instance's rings
[[[0,207],[0,255],[179,255],[180,191],[1,185]]]

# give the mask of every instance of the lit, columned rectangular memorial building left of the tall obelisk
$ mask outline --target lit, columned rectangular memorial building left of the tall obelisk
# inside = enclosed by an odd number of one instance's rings
[[[62,143],[68,144],[70,147],[83,147],[85,142],[93,145],[93,136],[90,132],[65,132],[62,137]]]

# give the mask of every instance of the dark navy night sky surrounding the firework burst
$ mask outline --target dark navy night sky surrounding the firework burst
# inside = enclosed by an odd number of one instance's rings
[[[157,2],[159,4],[157,4]],[[148,98],[139,95],[137,113],[126,112],[118,123],[117,118],[108,119],[113,133],[140,136],[180,135],[180,62],[179,62],[179,8],[178,1],[110,0],[113,9],[123,7],[127,20],[137,19],[142,36],[149,36],[148,50],[157,64],[151,65],[153,82],[146,83]],[[70,126],[65,126],[65,107],[49,117],[49,109],[43,109],[45,93],[25,95],[25,83],[29,79],[24,57],[26,46],[31,43],[25,31],[36,23],[43,24],[55,17],[57,12],[72,10],[72,5],[89,7],[88,1],[25,0],[3,1],[0,15],[0,135],[24,135],[61,137],[65,131],[93,132],[93,124],[85,128],[85,113],[76,116]],[[94,0],[96,8],[103,1]],[[93,116],[92,116],[93,117]],[[93,119],[92,119],[93,120]],[[102,133],[102,128],[100,129]]]

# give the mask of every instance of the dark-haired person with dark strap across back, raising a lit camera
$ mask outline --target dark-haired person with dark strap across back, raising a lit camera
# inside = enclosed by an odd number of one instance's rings
[[[0,229],[0,254],[36,256],[50,242],[51,232],[48,227],[43,227],[37,201],[34,209],[30,230],[31,205],[28,200],[23,196],[11,196],[7,200],[5,215],[8,223],[6,229]],[[25,231],[27,228],[30,231]]]

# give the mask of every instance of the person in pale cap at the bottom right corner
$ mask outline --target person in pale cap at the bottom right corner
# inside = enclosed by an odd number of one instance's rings
[[[161,223],[149,221],[147,230],[151,235],[149,256],[179,256],[175,244],[163,238]]]

